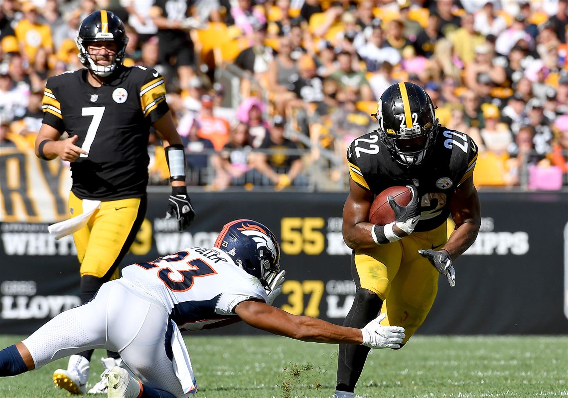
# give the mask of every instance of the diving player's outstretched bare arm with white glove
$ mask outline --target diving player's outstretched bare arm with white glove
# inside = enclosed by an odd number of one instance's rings
[[[296,340],[319,343],[364,344],[371,348],[398,348],[404,338],[399,326],[381,326],[382,315],[363,329],[330,324],[307,316],[287,313],[260,301],[243,301],[236,314],[250,326]]]

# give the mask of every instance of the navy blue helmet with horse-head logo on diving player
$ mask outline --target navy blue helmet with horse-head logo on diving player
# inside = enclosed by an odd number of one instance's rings
[[[239,219],[225,224],[214,246],[227,253],[237,266],[257,277],[265,288],[280,271],[278,241],[260,222]]]

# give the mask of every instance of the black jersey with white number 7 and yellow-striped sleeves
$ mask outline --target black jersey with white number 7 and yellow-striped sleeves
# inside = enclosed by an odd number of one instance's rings
[[[75,144],[89,154],[71,163],[71,190],[81,199],[144,196],[149,129],[169,110],[164,78],[154,69],[119,67],[95,88],[87,73],[49,78],[43,97],[43,123],[78,135]]]

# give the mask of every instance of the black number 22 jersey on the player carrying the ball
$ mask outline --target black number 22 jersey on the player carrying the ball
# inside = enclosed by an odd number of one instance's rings
[[[463,132],[440,126],[433,146],[427,159],[407,167],[393,159],[378,132],[370,132],[349,146],[349,173],[353,181],[375,194],[390,186],[417,185],[421,215],[415,231],[430,231],[448,218],[450,199],[473,175],[477,160],[477,145]]]

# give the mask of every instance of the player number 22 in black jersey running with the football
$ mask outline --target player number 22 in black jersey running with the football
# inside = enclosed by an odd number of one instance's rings
[[[347,151],[343,237],[353,249],[356,293],[344,325],[360,327],[385,313],[383,325],[404,327],[402,347],[432,308],[439,273],[453,286],[453,262],[477,237],[477,146],[466,134],[439,125],[431,98],[416,84],[391,85],[373,116],[378,129],[355,139]],[[399,206],[390,198],[396,220],[370,223],[375,195],[401,185],[411,189],[410,203]],[[448,239],[449,215],[456,229]],[[366,347],[340,345],[336,398],[353,397],[367,353]]]

